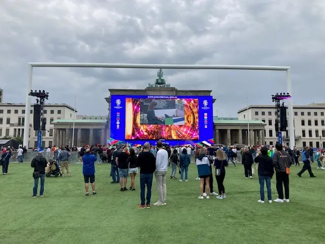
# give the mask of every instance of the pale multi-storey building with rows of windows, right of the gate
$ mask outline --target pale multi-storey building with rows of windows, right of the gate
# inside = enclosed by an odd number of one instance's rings
[[[287,114],[288,116],[288,114]],[[266,123],[267,144],[277,141],[275,106],[250,105],[238,111],[239,119],[262,120]],[[325,147],[325,103],[294,106],[295,144],[298,147]],[[288,132],[283,132],[283,144],[288,144]]]

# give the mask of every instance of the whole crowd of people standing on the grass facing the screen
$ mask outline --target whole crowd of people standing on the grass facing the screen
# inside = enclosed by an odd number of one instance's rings
[[[188,179],[188,167],[191,163],[191,157],[194,157],[198,177],[200,180],[200,196],[199,199],[216,196],[217,199],[226,198],[225,187],[223,184],[225,178],[226,167],[229,167],[231,162],[234,167],[238,164],[237,148],[222,147],[222,146],[206,146],[206,147],[192,147],[164,145],[158,141],[156,146],[150,145],[146,142],[143,146],[103,146],[103,145],[85,145],[85,146],[53,146],[45,150],[51,153],[53,160],[48,162],[44,157],[44,152],[40,151],[38,155],[32,159],[31,167],[34,168],[33,177],[35,184],[33,188],[32,197],[37,197],[37,189],[39,180],[41,181],[40,196],[44,196],[44,181],[47,169],[57,167],[58,172],[62,177],[71,176],[69,168],[69,157],[71,151],[79,153],[79,161],[83,164],[83,176],[85,183],[86,196],[89,196],[88,184],[90,182],[92,188],[92,195],[95,195],[95,162],[111,163],[111,184],[120,184],[120,191],[136,191],[136,175],[140,168],[140,197],[141,203],[139,208],[149,208],[151,203],[151,188],[153,176],[155,176],[158,201],[153,205],[166,205],[166,178],[167,169],[171,166],[171,179],[176,178],[177,168],[179,169],[179,181]],[[19,147],[17,158],[19,162],[23,162],[25,147]],[[12,157],[12,148],[2,148],[1,165],[3,166],[3,174],[8,173],[9,160]],[[317,150],[315,153],[312,148],[304,147],[298,150],[294,147],[291,150],[288,146],[283,148],[281,144],[276,146],[251,146],[240,149],[241,163],[244,167],[245,178],[253,178],[254,171],[258,173],[260,185],[260,199],[258,202],[264,203],[264,186],[266,184],[268,201],[272,202],[271,193],[271,179],[275,173],[276,175],[276,189],[278,198],[275,202],[289,202],[289,174],[290,167],[295,165],[300,166],[299,157],[303,161],[303,168],[297,174],[302,177],[302,174],[307,170],[310,177],[316,177],[311,169],[311,163],[317,161],[317,169],[325,169],[325,152]],[[321,162],[323,165],[321,165]],[[217,182],[218,193],[213,190],[213,174]],[[55,175],[57,176],[57,175]],[[127,188],[127,179],[131,178],[131,186]],[[284,188],[284,193],[283,193]],[[147,194],[145,196],[145,189]]]

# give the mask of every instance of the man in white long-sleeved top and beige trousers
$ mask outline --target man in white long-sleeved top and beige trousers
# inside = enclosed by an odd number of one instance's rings
[[[156,155],[156,171],[154,175],[156,177],[157,191],[159,200],[154,203],[154,206],[166,205],[166,174],[168,167],[168,153],[163,148],[163,142],[157,141],[157,155]]]

